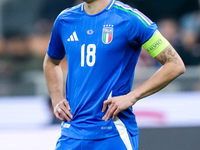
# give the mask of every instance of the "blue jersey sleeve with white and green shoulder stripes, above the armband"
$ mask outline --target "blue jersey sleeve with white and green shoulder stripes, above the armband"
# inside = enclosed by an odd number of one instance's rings
[[[137,9],[133,9],[127,27],[127,36],[131,44],[142,46],[158,29],[157,25]]]

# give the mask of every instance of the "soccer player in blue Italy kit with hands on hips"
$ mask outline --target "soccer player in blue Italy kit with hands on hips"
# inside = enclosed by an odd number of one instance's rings
[[[141,47],[162,67],[131,91]],[[67,57],[66,98],[60,61]],[[184,73],[154,22],[115,0],[84,0],[56,19],[44,73],[55,116],[63,121],[56,150],[137,150],[132,106]]]

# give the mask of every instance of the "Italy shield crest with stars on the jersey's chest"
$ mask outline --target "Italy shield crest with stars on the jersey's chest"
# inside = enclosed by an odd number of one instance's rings
[[[113,25],[104,25],[102,32],[102,41],[104,44],[110,44],[113,39]]]

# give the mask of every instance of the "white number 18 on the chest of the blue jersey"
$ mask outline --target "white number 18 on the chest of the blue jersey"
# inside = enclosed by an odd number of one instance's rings
[[[89,44],[87,46],[86,64],[89,67],[94,66],[96,61],[96,45]],[[81,67],[85,66],[85,44],[81,46]]]

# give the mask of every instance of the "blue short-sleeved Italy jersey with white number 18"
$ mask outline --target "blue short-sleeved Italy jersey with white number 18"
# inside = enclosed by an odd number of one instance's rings
[[[56,19],[47,53],[53,59],[66,55],[66,99],[73,119],[62,124],[62,134],[77,139],[103,139],[119,135],[122,128],[138,134],[132,108],[118,121],[103,121],[103,102],[109,95],[131,91],[135,65],[144,44],[157,26],[136,9],[111,0],[96,15],[84,3],[64,10]]]

